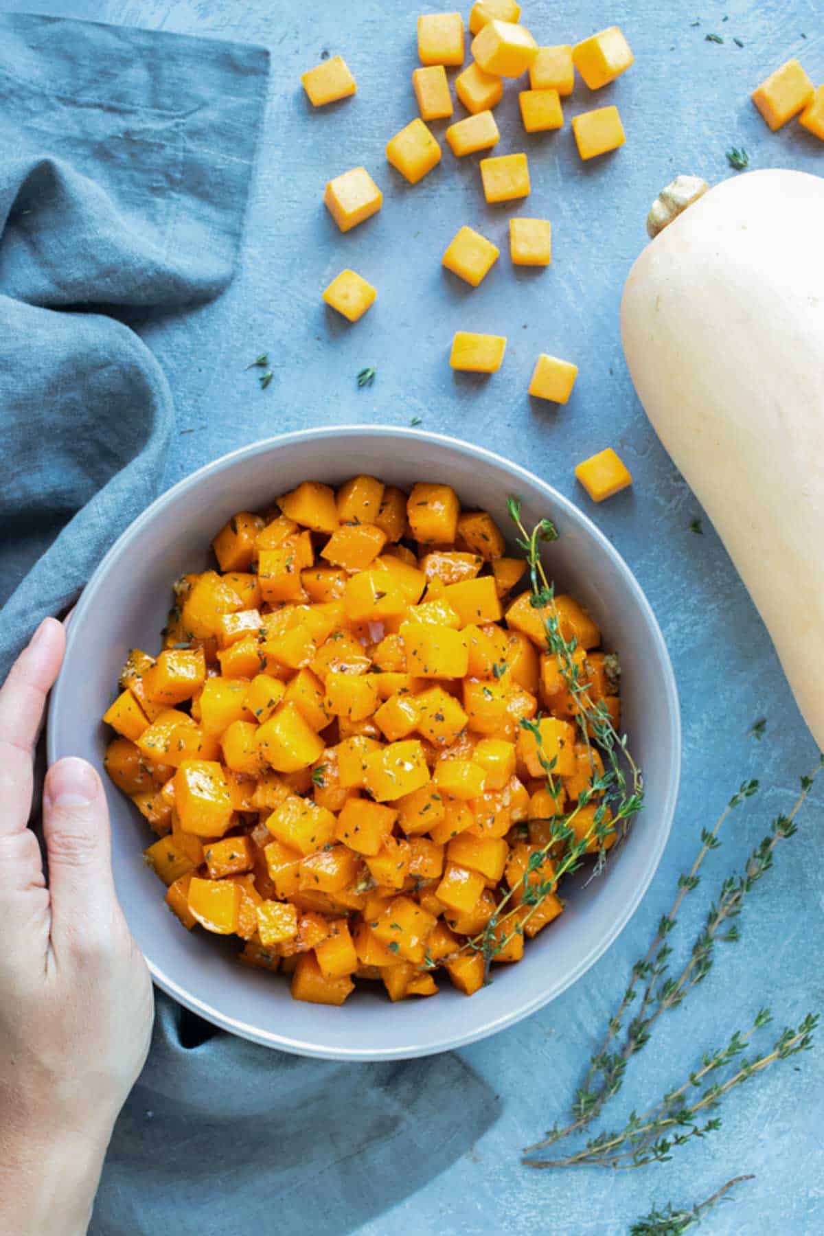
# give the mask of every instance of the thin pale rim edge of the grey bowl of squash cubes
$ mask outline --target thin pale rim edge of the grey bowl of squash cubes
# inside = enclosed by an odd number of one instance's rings
[[[153,981],[166,991],[167,995],[177,1000],[178,1004],[189,1009],[191,1012],[198,1014],[204,1017],[204,1020],[211,1022],[232,1035],[237,1035],[241,1038],[250,1039],[251,1042],[259,1043],[264,1047],[274,1048],[277,1051],[289,1052],[296,1056],[308,1056],[316,1059],[329,1059],[329,1060],[351,1060],[351,1062],[377,1062],[377,1060],[392,1060],[392,1059],[413,1059],[415,1057],[435,1056],[440,1052],[453,1051],[458,1047],[466,1047],[469,1043],[478,1042],[482,1038],[487,1038],[490,1035],[495,1035],[509,1026],[514,1026],[516,1022],[521,1021],[524,1017],[530,1016],[539,1009],[550,1004],[552,1000],[557,999],[563,991],[571,988],[574,983],[582,978],[587,970],[589,970],[595,962],[598,962],[603,954],[615,943],[618,937],[621,934],[630,918],[641,904],[651,881],[657,871],[658,864],[663,855],[666,848],[670,831],[672,827],[672,819],[675,816],[676,802],[678,798],[678,787],[681,781],[681,749],[682,749],[682,728],[681,728],[681,707],[678,701],[678,688],[676,685],[676,677],[672,669],[672,661],[670,659],[670,653],[667,650],[658,620],[655,617],[652,607],[647,601],[647,597],[641,588],[640,583],[635,578],[635,575],[618,552],[612,541],[600,531],[600,529],[589,519],[579,507],[577,507],[570,498],[566,498],[562,493],[549,485],[549,482],[541,480],[534,472],[523,467],[520,464],[515,464],[511,460],[505,459],[503,455],[498,455],[495,451],[487,450],[484,446],[476,446],[473,442],[463,441],[460,438],[452,438],[447,434],[437,434],[430,430],[411,429],[401,425],[369,425],[369,424],[347,424],[347,425],[325,425],[311,429],[299,429],[292,430],[285,434],[277,434],[271,438],[262,438],[247,446],[241,446],[237,450],[230,451],[226,455],[221,455],[211,462],[203,465],[194,472],[183,477],[169,489],[161,493],[153,502],[151,502],[145,510],[141,512],[124,529],[120,536],[115,540],[111,548],[104,554],[100,562],[90,575],[83,592],[78,597],[77,604],[72,611],[72,620],[68,624],[67,630],[67,648],[63,659],[63,666],[61,667],[61,674],[57,682],[52,690],[48,705],[48,718],[47,718],[47,735],[46,735],[46,748],[47,759],[52,764],[59,758],[56,750],[56,727],[51,723],[52,717],[57,716],[63,707],[62,695],[63,695],[63,681],[64,681],[64,667],[69,661],[69,655],[73,644],[73,630],[78,630],[83,623],[85,612],[95,603],[95,595],[101,587],[109,570],[109,564],[124,552],[125,549],[131,544],[131,541],[140,535],[141,530],[146,524],[151,523],[158,512],[163,510],[167,506],[177,501],[182,494],[189,491],[194,491],[201,483],[206,476],[214,476],[215,473],[224,472],[232,468],[236,464],[242,462],[245,459],[254,457],[269,450],[277,450],[278,447],[290,446],[296,442],[303,442],[308,440],[324,439],[337,439],[341,436],[355,436],[361,434],[369,434],[376,438],[385,439],[406,439],[415,438],[423,439],[424,441],[431,442],[434,447],[447,446],[452,450],[457,450],[463,455],[472,456],[474,459],[482,459],[489,464],[493,464],[498,468],[503,468],[505,472],[510,473],[513,478],[521,477],[529,485],[535,486],[537,489],[546,492],[547,497],[552,501],[555,507],[563,512],[565,517],[577,523],[583,531],[594,540],[602,551],[609,557],[613,565],[616,567],[618,572],[623,577],[626,587],[629,588],[633,598],[644,613],[652,641],[656,646],[658,658],[661,660],[663,670],[663,685],[666,695],[666,711],[672,721],[672,738],[668,753],[668,768],[670,779],[667,785],[667,792],[660,811],[660,827],[655,834],[655,844],[649,847],[644,852],[644,869],[640,879],[635,883],[631,895],[624,902],[621,913],[612,920],[609,929],[604,936],[594,944],[589,952],[581,958],[577,965],[568,971],[562,979],[557,979],[553,983],[547,984],[545,991],[539,996],[535,996],[523,1004],[511,1005],[505,1010],[505,1012],[490,1017],[481,1026],[476,1026],[473,1030],[466,1031],[463,1033],[453,1033],[442,1037],[435,1043],[426,1043],[421,1046],[400,1046],[400,1047],[364,1047],[364,1048],[334,1048],[325,1046],[324,1043],[309,1042],[304,1039],[289,1038],[284,1035],[273,1033],[271,1031],[261,1031],[258,1027],[247,1025],[246,1022],[237,1021],[232,1017],[226,1016],[217,1009],[199,1000],[196,996],[191,995],[189,991],[184,990],[170,979],[161,969],[157,963],[152,962],[146,957],[146,964],[152,975]]]

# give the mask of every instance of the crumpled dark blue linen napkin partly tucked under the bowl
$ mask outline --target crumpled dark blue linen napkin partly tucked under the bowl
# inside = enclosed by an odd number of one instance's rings
[[[172,398],[126,321],[231,279],[267,74],[259,47],[0,17],[0,679],[158,491]],[[353,1231],[497,1110],[457,1056],[299,1059],[157,993],[90,1231]]]

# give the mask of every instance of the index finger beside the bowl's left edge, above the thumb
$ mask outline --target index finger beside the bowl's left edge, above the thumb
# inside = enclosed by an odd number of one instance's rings
[[[63,627],[44,618],[0,687],[0,836],[20,832],[28,821],[35,742],[64,648]]]

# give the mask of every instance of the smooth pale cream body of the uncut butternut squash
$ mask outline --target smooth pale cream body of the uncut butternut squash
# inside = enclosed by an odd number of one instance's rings
[[[750,172],[641,253],[621,336],[824,749],[824,179]]]

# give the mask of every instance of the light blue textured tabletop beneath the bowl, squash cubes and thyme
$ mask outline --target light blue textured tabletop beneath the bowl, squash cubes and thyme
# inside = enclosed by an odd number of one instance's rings
[[[0,11],[12,7],[0,0]],[[683,785],[672,839],[641,908],[571,991],[514,1030],[463,1051],[502,1096],[499,1121],[466,1158],[361,1234],[621,1232],[652,1200],[694,1203],[740,1172],[756,1179],[713,1214],[708,1231],[822,1231],[820,1051],[802,1060],[801,1072],[789,1064],[739,1091],[721,1132],[679,1152],[668,1166],[615,1177],[535,1173],[518,1162],[520,1146],[565,1116],[629,968],[668,908],[678,873],[693,859],[699,827],[714,821],[744,776],[761,777],[762,794],[730,823],[694,906],[682,916],[684,929],[675,941],[679,955],[699,923],[703,899],[760,839],[770,815],[792,803],[798,774],[815,761],[814,744],[729,559],[705,520],[703,536],[689,531],[700,512],[635,399],[621,357],[618,305],[645,243],[649,201],[675,173],[720,179],[730,174],[724,152],[733,145],[746,147],[754,167],[824,166],[820,142],[796,125],[770,133],[749,101],[754,85],[789,56],[799,56],[814,80],[824,79],[817,0],[705,6],[693,0],[528,0],[524,20],[539,42],[576,41],[618,22],[636,63],[597,95],[578,84],[566,103],[567,117],[605,103],[621,111],[626,146],[588,166],[578,162],[568,122],[558,133],[525,136],[518,88],[508,89],[497,110],[497,153],[526,150],[532,177],[530,199],[510,208],[484,205],[474,156],[457,162],[445,150],[441,166],[414,188],[384,161],[387,140],[416,114],[410,73],[420,9],[409,0],[357,0],[345,7],[331,0],[303,6],[283,0],[54,0],[31,7],[273,49],[272,98],[241,274],[216,304],[172,325],[145,324],[143,335],[177,400],[180,436],[168,481],[282,430],[406,424],[420,417],[425,428],[490,446],[581,502],[636,572],[673,658],[684,723]],[[705,40],[715,32],[723,44]],[[346,57],[358,95],[315,112],[299,77],[324,49]],[[462,115],[460,106],[456,111]],[[444,127],[434,126],[437,133]],[[342,236],[321,204],[324,184],[359,163],[383,188],[384,208]],[[507,243],[513,214],[551,219],[549,271],[513,269]],[[502,248],[498,265],[474,290],[440,267],[441,252],[462,224]],[[355,326],[320,300],[320,290],[345,266],[378,288],[377,304]],[[488,381],[452,375],[448,345],[458,328],[508,336],[498,375]],[[275,377],[261,392],[254,371],[243,366],[264,350]],[[566,408],[556,410],[526,394],[541,351],[579,366]],[[358,391],[355,378],[366,365],[377,366],[377,381]],[[572,467],[605,445],[616,447],[635,485],[592,508],[576,488]],[[767,733],[756,743],[747,728],[762,714]],[[660,1023],[615,1101],[615,1119],[631,1106],[644,1109],[681,1080],[705,1048],[744,1028],[760,1005],[771,1004],[782,1025],[822,1006],[815,947],[824,929],[822,802],[819,790],[802,836],[782,848],[775,871],[752,894],[742,942],[721,946],[704,986]],[[444,1095],[444,1103],[460,1104],[461,1096]],[[341,1231],[350,1226],[341,1214]]]

